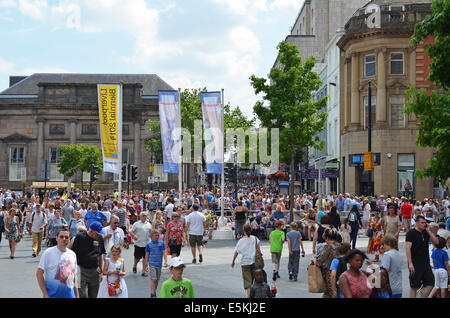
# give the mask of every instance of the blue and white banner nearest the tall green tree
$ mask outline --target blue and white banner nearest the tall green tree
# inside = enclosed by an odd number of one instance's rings
[[[205,135],[206,173],[222,174],[223,107],[221,92],[200,93]]]

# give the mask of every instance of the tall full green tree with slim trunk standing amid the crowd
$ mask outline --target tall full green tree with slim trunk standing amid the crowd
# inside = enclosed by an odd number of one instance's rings
[[[250,77],[255,94],[263,93],[263,101],[258,101],[253,110],[262,126],[278,128],[280,132],[280,160],[290,162],[289,207],[294,206],[294,166],[299,160],[303,147],[323,149],[324,142],[316,135],[324,130],[327,113],[318,113],[326,106],[327,97],[312,100],[312,92],[320,88],[322,81],[312,69],[315,58],[303,63],[295,45],[281,42],[278,45],[280,68],[272,68],[268,77]],[[297,158],[296,158],[297,156]],[[290,213],[290,222],[293,213]]]

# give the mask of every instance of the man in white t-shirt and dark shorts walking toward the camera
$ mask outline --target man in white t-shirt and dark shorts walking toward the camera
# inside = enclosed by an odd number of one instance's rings
[[[131,228],[130,234],[134,239],[134,265],[133,273],[137,272],[137,264],[141,259],[145,259],[145,247],[150,242],[150,234],[152,233],[152,225],[147,220],[148,213],[146,211],[141,212],[139,215],[140,220],[134,222]],[[147,276],[148,264],[143,261],[142,263],[142,276]]]

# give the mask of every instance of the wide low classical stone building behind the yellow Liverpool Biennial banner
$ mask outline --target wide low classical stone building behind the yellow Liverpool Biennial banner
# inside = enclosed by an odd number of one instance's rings
[[[0,187],[20,190],[22,180],[27,187],[42,181],[45,160],[50,164],[50,181],[67,181],[57,171],[58,145],[100,148],[97,84],[102,83],[123,84],[122,158],[138,166],[135,188],[149,187],[151,156],[144,147],[149,137],[146,123],[159,118],[158,90],[172,89],[153,74],[11,76],[10,87],[0,93]],[[83,179],[89,182],[89,173]],[[80,173],[72,178],[72,182],[80,181]],[[117,181],[117,176],[103,173],[96,186],[112,190]]]

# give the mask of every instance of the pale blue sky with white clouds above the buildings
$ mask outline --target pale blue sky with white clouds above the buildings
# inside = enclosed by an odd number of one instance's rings
[[[225,89],[252,116],[303,0],[0,0],[0,91],[9,75],[152,73]]]

